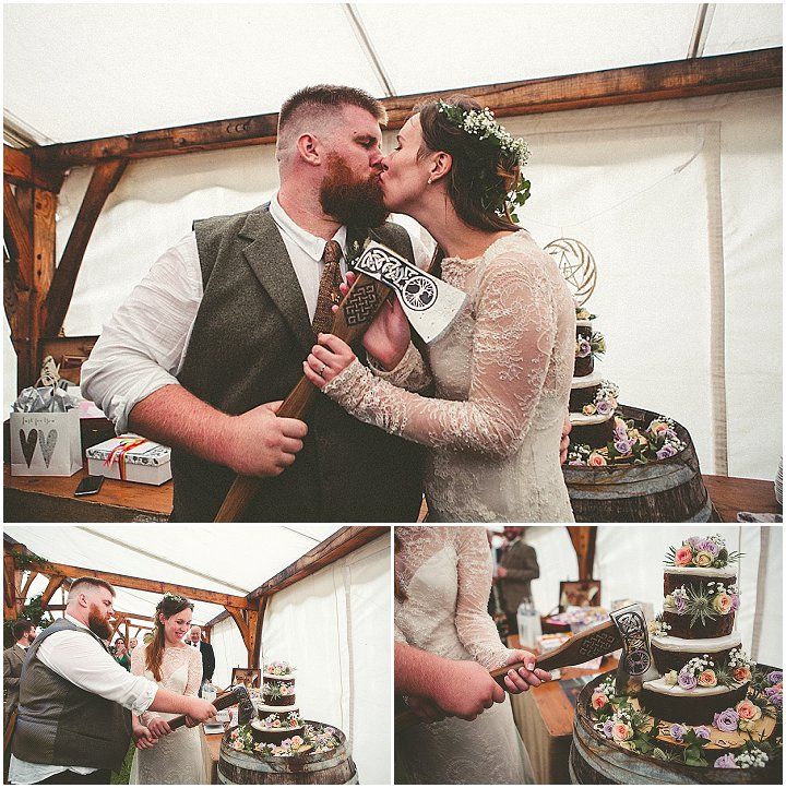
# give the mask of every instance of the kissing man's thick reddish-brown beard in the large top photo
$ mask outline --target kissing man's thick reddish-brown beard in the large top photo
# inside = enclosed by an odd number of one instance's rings
[[[322,210],[343,225],[379,227],[388,218],[379,175],[358,179],[337,154],[327,158],[327,172],[320,188]]]

